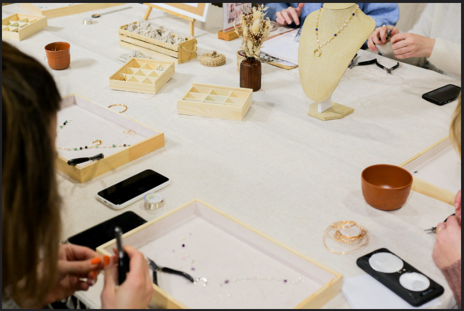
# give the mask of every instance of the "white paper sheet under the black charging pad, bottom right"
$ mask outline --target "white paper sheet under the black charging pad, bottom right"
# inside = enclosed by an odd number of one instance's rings
[[[342,293],[353,309],[423,309],[441,306],[435,298],[421,307],[413,307],[369,274],[346,277]]]

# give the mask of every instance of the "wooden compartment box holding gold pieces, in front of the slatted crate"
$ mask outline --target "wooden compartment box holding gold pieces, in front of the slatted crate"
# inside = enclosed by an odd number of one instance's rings
[[[174,72],[174,62],[132,58],[110,77],[110,87],[114,90],[156,94]]]

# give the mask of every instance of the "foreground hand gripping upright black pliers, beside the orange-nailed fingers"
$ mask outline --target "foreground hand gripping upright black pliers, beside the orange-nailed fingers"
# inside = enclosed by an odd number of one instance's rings
[[[131,246],[124,246],[129,256],[129,273],[117,285],[117,259],[105,263],[105,285],[101,295],[102,309],[146,309],[153,294],[148,262],[144,255]]]

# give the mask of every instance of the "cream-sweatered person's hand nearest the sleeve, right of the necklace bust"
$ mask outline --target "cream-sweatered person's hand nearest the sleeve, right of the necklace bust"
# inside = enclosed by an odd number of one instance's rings
[[[390,39],[391,48],[398,59],[410,57],[430,57],[435,39],[405,33],[397,34]]]

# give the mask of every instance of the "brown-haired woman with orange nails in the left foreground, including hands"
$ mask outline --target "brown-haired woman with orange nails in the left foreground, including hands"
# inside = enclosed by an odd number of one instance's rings
[[[102,306],[147,308],[152,282],[144,256],[130,246],[130,272],[119,287],[112,258],[105,267],[87,247],[60,245],[60,197],[55,181],[55,81],[34,58],[3,42],[2,97],[2,309],[42,308],[87,290],[105,268]],[[108,281],[107,281],[108,278]],[[86,279],[86,280],[84,280]],[[117,293],[117,295],[116,295]]]

